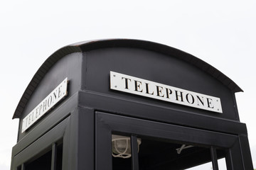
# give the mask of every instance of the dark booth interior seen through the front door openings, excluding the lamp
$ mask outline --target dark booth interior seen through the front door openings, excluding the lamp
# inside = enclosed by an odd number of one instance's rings
[[[178,149],[183,144],[173,142],[163,142],[156,140],[142,139],[139,146],[139,169],[140,170],[161,170],[161,169],[189,169],[201,164],[211,162],[210,148],[198,147],[193,145],[186,149],[182,149],[178,153]],[[225,157],[225,150],[218,149],[218,159]],[[131,170],[132,158],[124,159],[112,157],[113,170]]]

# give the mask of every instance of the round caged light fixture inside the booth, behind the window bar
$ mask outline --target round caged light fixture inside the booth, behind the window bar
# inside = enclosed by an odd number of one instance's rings
[[[138,152],[141,143],[142,139],[137,138]],[[121,158],[132,157],[131,138],[121,135],[112,135],[112,156]]]

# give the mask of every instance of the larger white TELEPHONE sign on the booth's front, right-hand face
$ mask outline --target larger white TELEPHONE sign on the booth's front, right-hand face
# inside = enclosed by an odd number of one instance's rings
[[[220,98],[198,94],[193,91],[187,91],[117,72],[110,72],[110,89],[223,113]]]

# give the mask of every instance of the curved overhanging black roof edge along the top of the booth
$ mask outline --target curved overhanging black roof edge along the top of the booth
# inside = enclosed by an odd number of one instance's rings
[[[62,57],[68,55],[73,52],[85,52],[89,50],[96,50],[105,47],[135,47],[142,48],[145,50],[151,50],[155,52],[161,52],[165,55],[171,55],[172,57],[177,57],[180,60],[184,60],[190,64],[193,64],[195,67],[203,70],[213,76],[218,81],[221,81],[225,86],[228,87],[233,92],[242,91],[240,87],[235,84],[230,78],[226,77],[222,72],[215,69],[210,64],[203,62],[203,60],[194,57],[186,52],[178,50],[174,47],[169,47],[167,45],[161,45],[156,42],[149,42],[144,40],[129,40],[129,39],[110,39],[110,40],[93,40],[93,41],[85,41],[78,42],[72,45],[65,46],[60,48],[60,50],[50,55],[48,59],[41,65],[36,74],[31,79],[31,82],[28,84],[26,90],[21,97],[21,100],[18,103],[16,111],[14,112],[14,118],[20,118],[23,109],[26,107],[26,104],[29,101],[29,98],[33,94],[33,91],[36,89],[36,86],[40,84],[41,79],[46,75],[48,70],[53,67],[53,65],[58,62]]]

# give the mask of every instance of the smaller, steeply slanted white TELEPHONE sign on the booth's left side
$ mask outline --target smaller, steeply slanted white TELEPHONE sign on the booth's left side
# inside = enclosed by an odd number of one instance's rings
[[[50,108],[53,108],[58,101],[68,94],[68,78],[65,78],[60,85],[58,85],[41,103],[36,106],[36,108],[31,111],[22,121],[22,130],[24,132],[27,130],[33,123],[46,114]]]

